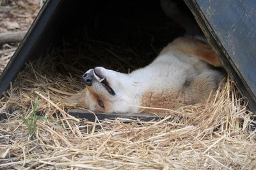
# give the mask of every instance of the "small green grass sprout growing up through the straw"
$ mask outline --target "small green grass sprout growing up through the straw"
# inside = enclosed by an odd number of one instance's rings
[[[36,115],[36,109],[38,108],[39,104],[38,104],[38,96],[36,96],[35,99],[35,103],[33,106],[33,110],[30,114],[30,117],[28,118],[28,120],[26,120],[25,117],[22,118],[22,122],[26,125],[28,125],[28,130],[29,130],[29,134],[33,135],[35,133],[36,130],[36,120],[37,120],[37,115]]]

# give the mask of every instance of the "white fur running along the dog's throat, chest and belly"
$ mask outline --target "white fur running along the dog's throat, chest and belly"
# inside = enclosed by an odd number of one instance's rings
[[[109,112],[138,113],[140,108],[134,105],[141,106],[141,97],[145,92],[179,90],[188,77],[206,78],[220,74],[209,69],[206,62],[175,50],[168,50],[147,67],[137,69],[130,74],[118,73],[104,67],[95,69],[100,69],[110,87],[116,92],[115,96],[109,95],[112,103],[112,109]]]

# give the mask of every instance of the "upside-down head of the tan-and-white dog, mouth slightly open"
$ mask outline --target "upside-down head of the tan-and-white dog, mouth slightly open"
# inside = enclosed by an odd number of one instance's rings
[[[79,103],[88,110],[100,112],[129,111],[129,89],[127,74],[118,73],[104,67],[95,67],[83,75],[86,88],[71,96],[69,103]]]

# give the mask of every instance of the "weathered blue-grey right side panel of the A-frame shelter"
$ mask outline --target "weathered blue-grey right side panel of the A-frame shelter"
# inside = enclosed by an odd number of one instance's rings
[[[256,113],[256,3],[184,0]]]

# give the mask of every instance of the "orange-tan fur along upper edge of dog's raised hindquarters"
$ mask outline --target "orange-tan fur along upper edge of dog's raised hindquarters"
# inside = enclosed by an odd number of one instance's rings
[[[211,46],[198,39],[188,37],[177,38],[170,43],[170,45],[164,48],[160,55],[170,51],[170,49],[175,49],[176,51],[185,53],[189,56],[204,60],[205,62],[208,62],[216,67],[223,66],[214,50],[212,50]]]

